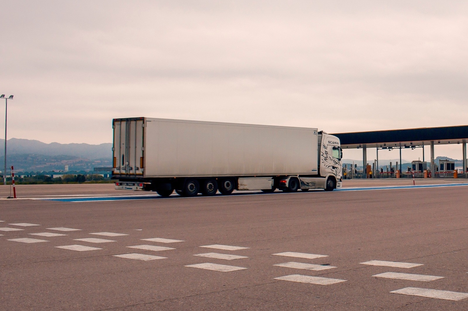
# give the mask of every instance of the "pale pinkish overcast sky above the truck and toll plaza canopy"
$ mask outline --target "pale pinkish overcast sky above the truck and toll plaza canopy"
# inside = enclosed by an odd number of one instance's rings
[[[111,142],[112,119],[137,116],[329,133],[468,123],[468,1],[0,5],[8,138]]]

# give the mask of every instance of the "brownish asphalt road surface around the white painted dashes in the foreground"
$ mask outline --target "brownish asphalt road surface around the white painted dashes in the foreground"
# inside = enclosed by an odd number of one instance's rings
[[[79,186],[65,188],[59,195],[86,194]],[[40,195],[55,193],[46,188],[29,195],[44,198]],[[4,221],[0,227],[24,229],[0,231],[0,309],[468,310],[468,298],[452,301],[390,293],[408,287],[468,293],[467,191],[468,186],[456,186],[80,203],[0,200]],[[40,226],[9,225],[18,223]],[[80,230],[48,229],[56,227]],[[30,234],[44,232],[66,235]],[[128,235],[90,234],[102,232]],[[22,238],[46,242],[11,241]],[[82,238],[114,242],[74,240]],[[182,241],[141,240],[148,238]],[[200,247],[212,244],[249,248]],[[101,249],[58,248],[70,245]],[[128,248],[138,245],[175,249]],[[284,252],[326,257],[274,255]],[[142,261],[114,256],[131,253],[167,258]],[[194,256],[205,253],[248,258]],[[361,263],[372,260],[421,265]],[[286,262],[336,268],[275,266]],[[186,267],[200,263],[247,269]],[[385,272],[444,278],[420,282],[374,276]],[[290,275],[344,282],[320,285],[275,279]]]

